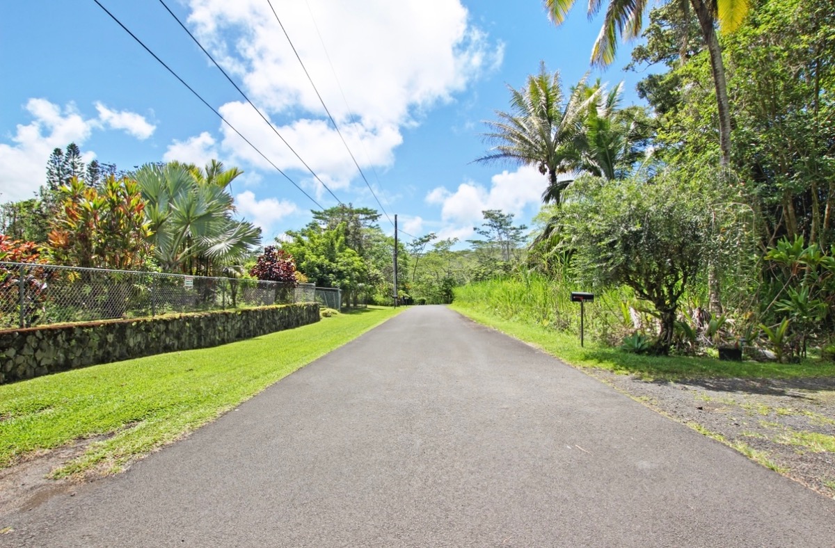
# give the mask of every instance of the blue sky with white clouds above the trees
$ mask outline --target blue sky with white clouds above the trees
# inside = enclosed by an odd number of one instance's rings
[[[242,169],[230,191],[264,244],[340,202],[384,210],[387,234],[397,214],[407,241],[434,232],[463,242],[484,209],[529,224],[541,206],[546,180],[535,168],[473,162],[490,146],[483,121],[509,110],[507,86],[522,87],[544,62],[566,90],[586,73],[624,81],[631,104],[645,76],[622,70],[630,44],[609,68],[590,68],[600,22],[582,2],[559,28],[540,0],[99,2],[260,152],[94,0],[8,3],[0,202],[31,198],[53,149],[74,142],[85,161],[120,169],[212,158]]]

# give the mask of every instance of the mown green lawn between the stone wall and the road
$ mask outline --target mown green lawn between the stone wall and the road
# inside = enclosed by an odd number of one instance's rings
[[[215,348],[0,386],[0,468],[37,451],[103,436],[54,475],[121,470],[401,310],[369,307]]]

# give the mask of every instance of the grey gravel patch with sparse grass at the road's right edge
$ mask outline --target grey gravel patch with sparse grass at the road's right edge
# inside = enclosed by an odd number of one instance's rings
[[[586,371],[650,408],[835,498],[835,379],[673,382]]]

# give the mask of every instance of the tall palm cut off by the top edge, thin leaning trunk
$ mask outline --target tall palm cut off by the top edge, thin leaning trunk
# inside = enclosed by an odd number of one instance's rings
[[[682,9],[687,9],[687,0],[678,0]],[[600,12],[604,0],[589,0],[589,15]],[[545,0],[545,8],[554,24],[562,24],[574,6],[574,0]],[[640,34],[641,23],[646,9],[646,0],[609,0],[606,7],[603,28],[591,52],[591,63],[605,66],[615,60],[617,38],[623,34],[626,38],[635,38]],[[721,165],[731,163],[731,112],[728,105],[725,65],[719,39],[716,37],[716,23],[724,32],[731,33],[742,23],[748,13],[748,0],[690,0],[690,6],[696,13],[711,57],[713,85],[716,88],[716,103],[719,108],[719,147]]]

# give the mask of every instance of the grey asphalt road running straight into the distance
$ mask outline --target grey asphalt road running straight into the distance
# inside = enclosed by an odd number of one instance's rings
[[[835,546],[832,500],[443,307],[2,521],[27,546]]]

